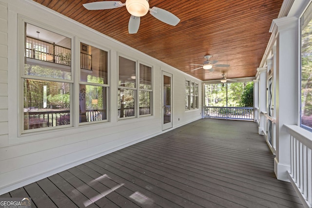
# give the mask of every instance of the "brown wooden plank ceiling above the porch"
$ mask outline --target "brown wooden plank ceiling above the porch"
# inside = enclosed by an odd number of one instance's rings
[[[149,13],[141,17],[137,34],[128,34],[130,14],[125,7],[85,9],[98,0],[34,0],[60,14],[155,57],[201,80],[255,76],[271,37],[269,29],[283,0],[149,0],[153,6],[175,14],[176,26]],[[122,0],[125,2],[125,0]],[[202,64],[205,55],[217,64],[214,72],[190,64]]]

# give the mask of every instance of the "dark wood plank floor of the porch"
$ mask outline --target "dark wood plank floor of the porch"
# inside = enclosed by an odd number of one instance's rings
[[[33,207],[301,208],[250,121],[201,119],[6,193]]]

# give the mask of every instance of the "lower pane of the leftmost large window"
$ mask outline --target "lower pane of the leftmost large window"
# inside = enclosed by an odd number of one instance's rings
[[[23,128],[70,124],[70,84],[24,79]]]

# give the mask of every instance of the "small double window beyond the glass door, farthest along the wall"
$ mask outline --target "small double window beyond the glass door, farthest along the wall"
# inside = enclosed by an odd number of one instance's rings
[[[198,109],[198,84],[185,80],[185,110]]]

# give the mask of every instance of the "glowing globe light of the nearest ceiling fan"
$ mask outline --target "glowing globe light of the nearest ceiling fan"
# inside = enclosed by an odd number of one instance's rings
[[[150,9],[147,0],[126,0],[126,8],[128,12],[136,17],[143,17]]]

